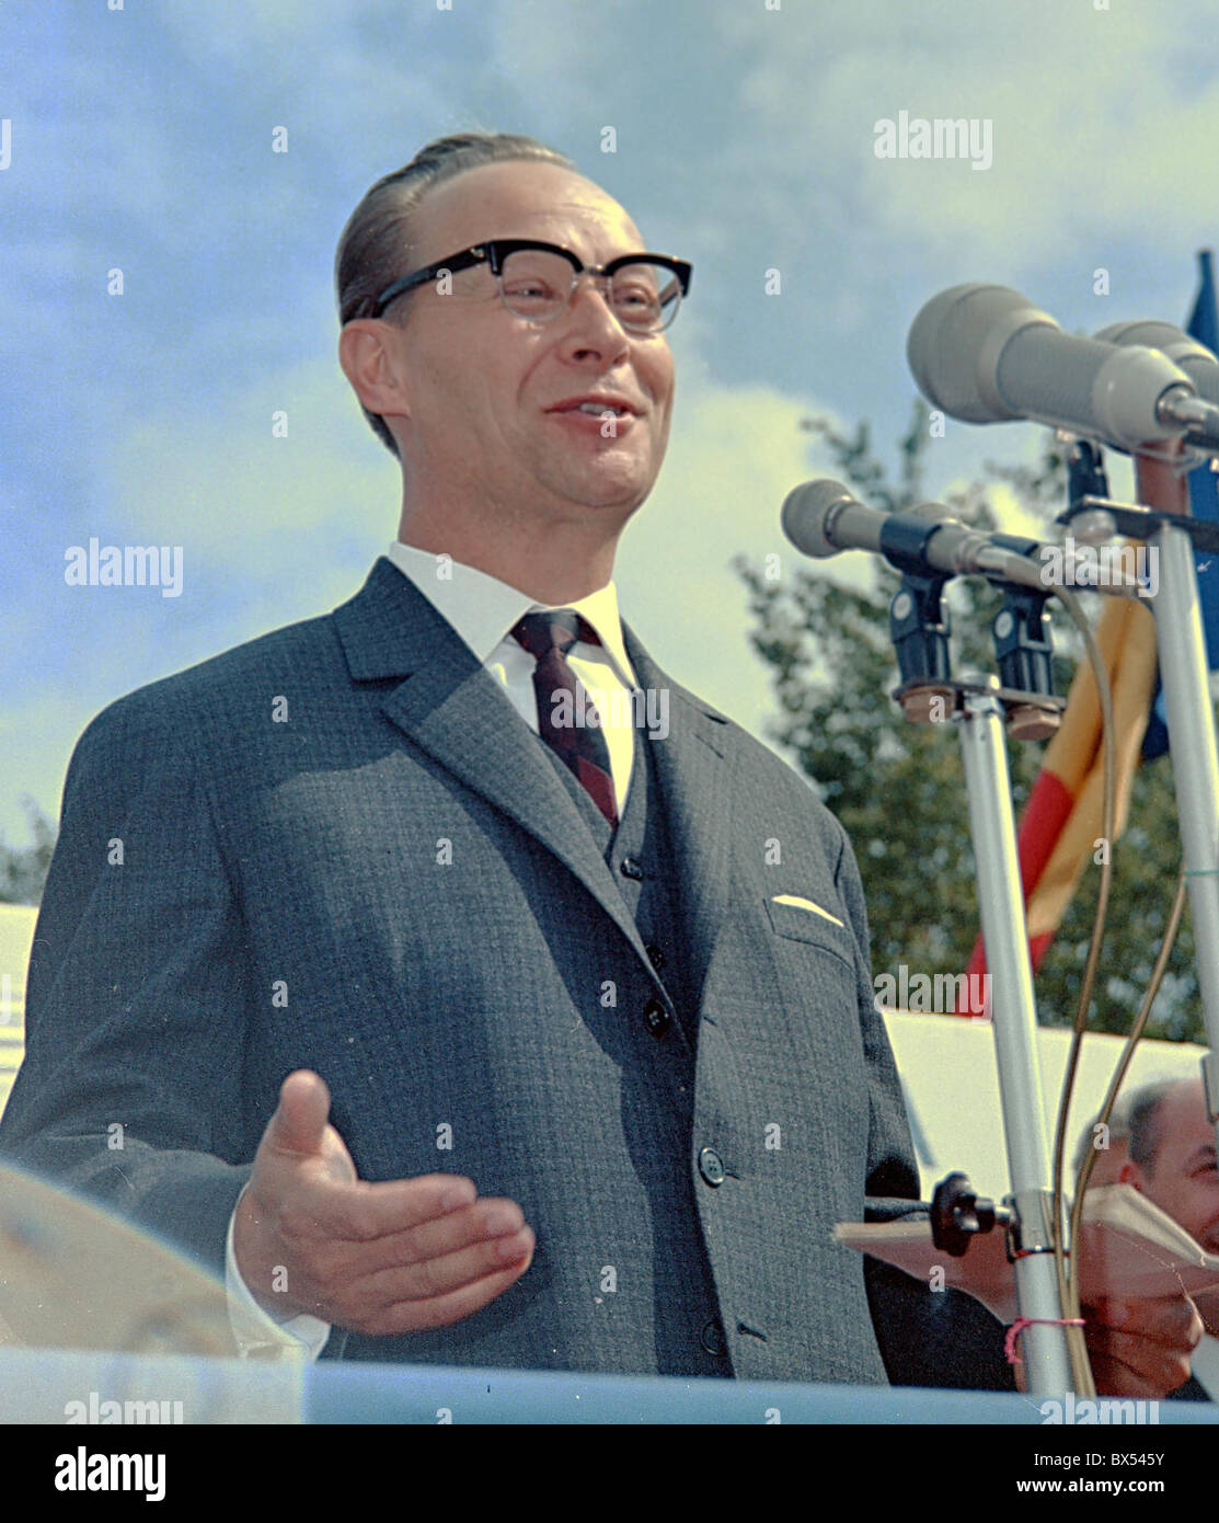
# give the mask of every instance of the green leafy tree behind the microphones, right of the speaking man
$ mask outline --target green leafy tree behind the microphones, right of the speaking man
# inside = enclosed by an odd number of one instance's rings
[[[860,500],[893,512],[913,507],[924,490],[927,410],[916,401],[898,440],[898,469],[875,455],[867,423],[840,433],[826,419],[802,426],[816,434],[834,472]],[[1036,466],[988,463],[983,480],[944,496],[966,521],[995,527],[991,492],[1004,483],[1046,519],[1065,501],[1062,449],[1052,442]],[[750,592],[753,649],[772,669],[779,719],[770,737],[814,783],[846,827],[867,896],[875,973],[899,964],[912,973],[960,973],[977,935],[974,856],[956,726],[910,723],[890,693],[898,667],[889,641],[889,599],[898,574],[877,562],[866,591],[835,583],[800,562],[779,580],[738,557]],[[1091,600],[1094,602],[1094,600]],[[1000,597],[983,582],[951,588],[953,670],[994,670],[989,621]],[[1053,614],[1055,605],[1050,605]],[[1065,693],[1082,644],[1065,615],[1055,624],[1055,682]],[[1023,809],[1044,746],[1009,742],[1012,792]],[[1129,825],[1114,850],[1108,931],[1093,1027],[1125,1031],[1138,1007],[1160,947],[1179,865],[1179,838],[1167,760],[1135,777]],[[1036,978],[1038,1016],[1068,1023],[1079,995],[1100,868],[1090,865]],[[1169,964],[1151,1036],[1201,1039],[1189,915]]]

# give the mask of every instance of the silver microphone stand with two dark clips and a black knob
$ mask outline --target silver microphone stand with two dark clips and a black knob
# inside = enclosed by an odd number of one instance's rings
[[[1024,739],[1044,739],[1058,728],[1062,701],[1052,696],[1050,647],[1044,638],[1046,597],[1003,586],[1006,600],[995,617],[998,678],[957,682],[950,675],[948,612],[942,606],[945,576],[928,571],[925,547],[939,525],[901,525],[886,550],[902,573],[890,605],[890,632],[902,684],[893,694],[915,722],[953,719],[960,728],[969,833],[979,888],[982,934],[991,987],[995,1062],[1003,1107],[1003,1132],[1012,1191],[1004,1199],[1007,1253],[1014,1264],[1027,1389],[1064,1397],[1076,1387],[1055,1266],[1055,1221],[1050,1148],[1046,1133],[1041,1065],[1036,1051],[1036,1008],[1024,921],[1024,894],[1017,856],[1012,790],[1004,728]],[[1009,539],[1018,553],[1033,553],[1035,541]],[[1049,595],[1049,589],[1047,594]],[[956,1180],[956,1183],[954,1183]],[[945,1194],[947,1193],[947,1194]],[[936,1191],[931,1232],[937,1247],[960,1255],[968,1235],[994,1224],[989,1202],[979,1202],[968,1180],[950,1176]]]

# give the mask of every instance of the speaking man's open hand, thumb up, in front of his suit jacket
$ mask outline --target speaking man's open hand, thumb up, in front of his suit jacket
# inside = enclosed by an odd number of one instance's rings
[[[263,1307],[415,1333],[479,1311],[525,1273],[534,1235],[514,1200],[479,1200],[455,1174],[365,1183],[329,1115],[324,1080],[289,1074],[237,1205],[237,1269]]]

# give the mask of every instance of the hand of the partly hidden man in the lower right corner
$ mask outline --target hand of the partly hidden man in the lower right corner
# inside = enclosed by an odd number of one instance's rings
[[[1099,1395],[1158,1400],[1190,1378],[1202,1319],[1189,1296],[1097,1301],[1084,1317]]]

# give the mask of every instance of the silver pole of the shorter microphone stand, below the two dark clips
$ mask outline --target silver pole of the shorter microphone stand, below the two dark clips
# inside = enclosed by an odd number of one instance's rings
[[[995,678],[989,684],[998,688]],[[1024,894],[1020,885],[1012,790],[1003,739],[1003,704],[991,693],[966,693],[960,748],[969,800],[982,935],[991,973],[992,1030],[998,1066],[1003,1130],[1012,1197],[1020,1221],[1021,1256],[1015,1263],[1017,1301],[1023,1317],[1061,1322],[1062,1305],[1053,1260],[1050,1150],[1036,1054],[1036,1010]],[[1219,888],[1219,883],[1216,883]],[[1062,1397],[1073,1389],[1064,1327],[1036,1325],[1021,1334],[1029,1390]]]

